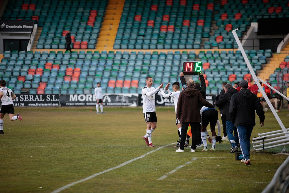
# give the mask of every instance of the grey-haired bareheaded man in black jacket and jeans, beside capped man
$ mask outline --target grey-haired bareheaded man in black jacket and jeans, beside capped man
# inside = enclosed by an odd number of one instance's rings
[[[229,83],[224,86],[224,91],[225,93],[219,98],[218,101],[215,102],[215,104],[220,109],[223,109],[225,111],[227,135],[232,146],[230,153],[234,153],[238,149],[239,137],[237,134],[237,128],[234,127],[234,124],[230,120],[229,107],[231,96],[238,91]]]

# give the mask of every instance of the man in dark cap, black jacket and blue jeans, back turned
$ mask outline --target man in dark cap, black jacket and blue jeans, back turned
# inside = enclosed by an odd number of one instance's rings
[[[241,162],[250,166],[250,138],[256,124],[255,111],[259,116],[261,127],[264,125],[265,115],[257,96],[248,89],[248,82],[241,80],[239,85],[240,92],[232,95],[229,112],[231,121],[238,130],[240,147],[244,156]]]

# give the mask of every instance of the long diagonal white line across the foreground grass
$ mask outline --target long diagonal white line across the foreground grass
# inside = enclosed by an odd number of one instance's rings
[[[134,159],[131,159],[131,160],[129,160],[129,161],[126,161],[126,162],[124,162],[124,163],[122,163],[122,164],[120,164],[120,165],[118,165],[118,166],[115,166],[115,167],[113,167],[113,168],[109,168],[109,169],[107,169],[107,170],[104,170],[104,171],[99,172],[99,173],[96,173],[96,174],[93,174],[93,175],[91,175],[91,176],[89,176],[89,177],[86,177],[86,178],[84,178],[84,179],[82,179],[82,180],[79,180],[79,181],[76,181],[76,182],[72,182],[72,183],[70,183],[70,184],[67,184],[67,185],[65,185],[65,186],[63,186],[63,187],[61,187],[61,188],[58,188],[57,190],[54,190],[52,193],[60,192],[60,191],[62,191],[62,190],[65,190],[66,188],[69,188],[69,187],[77,184],[77,183],[84,182],[84,181],[86,181],[86,180],[92,179],[92,178],[94,178],[94,177],[96,177],[96,176],[98,176],[98,175],[100,175],[100,174],[105,173],[105,172],[109,172],[109,171],[118,169],[118,168],[120,168],[120,167],[123,167],[123,166],[125,166],[125,165],[127,165],[127,164],[129,164],[129,163],[131,163],[131,162],[133,162],[133,161],[136,161],[136,160],[138,160],[138,159],[141,159],[141,158],[143,158],[143,157],[145,157],[145,156],[147,156],[147,155],[149,155],[149,154],[151,154],[151,153],[153,153],[153,152],[155,152],[155,151],[158,151],[158,150],[160,150],[160,149],[162,149],[162,148],[164,148],[164,147],[167,147],[167,146],[170,146],[170,145],[173,145],[173,144],[175,144],[175,143],[168,144],[168,145],[165,145],[165,146],[161,146],[161,147],[159,147],[159,148],[157,148],[157,149],[155,149],[155,150],[152,150],[152,151],[150,151],[150,152],[147,152],[147,153],[141,155],[140,157],[136,157],[136,158],[134,158]]]

